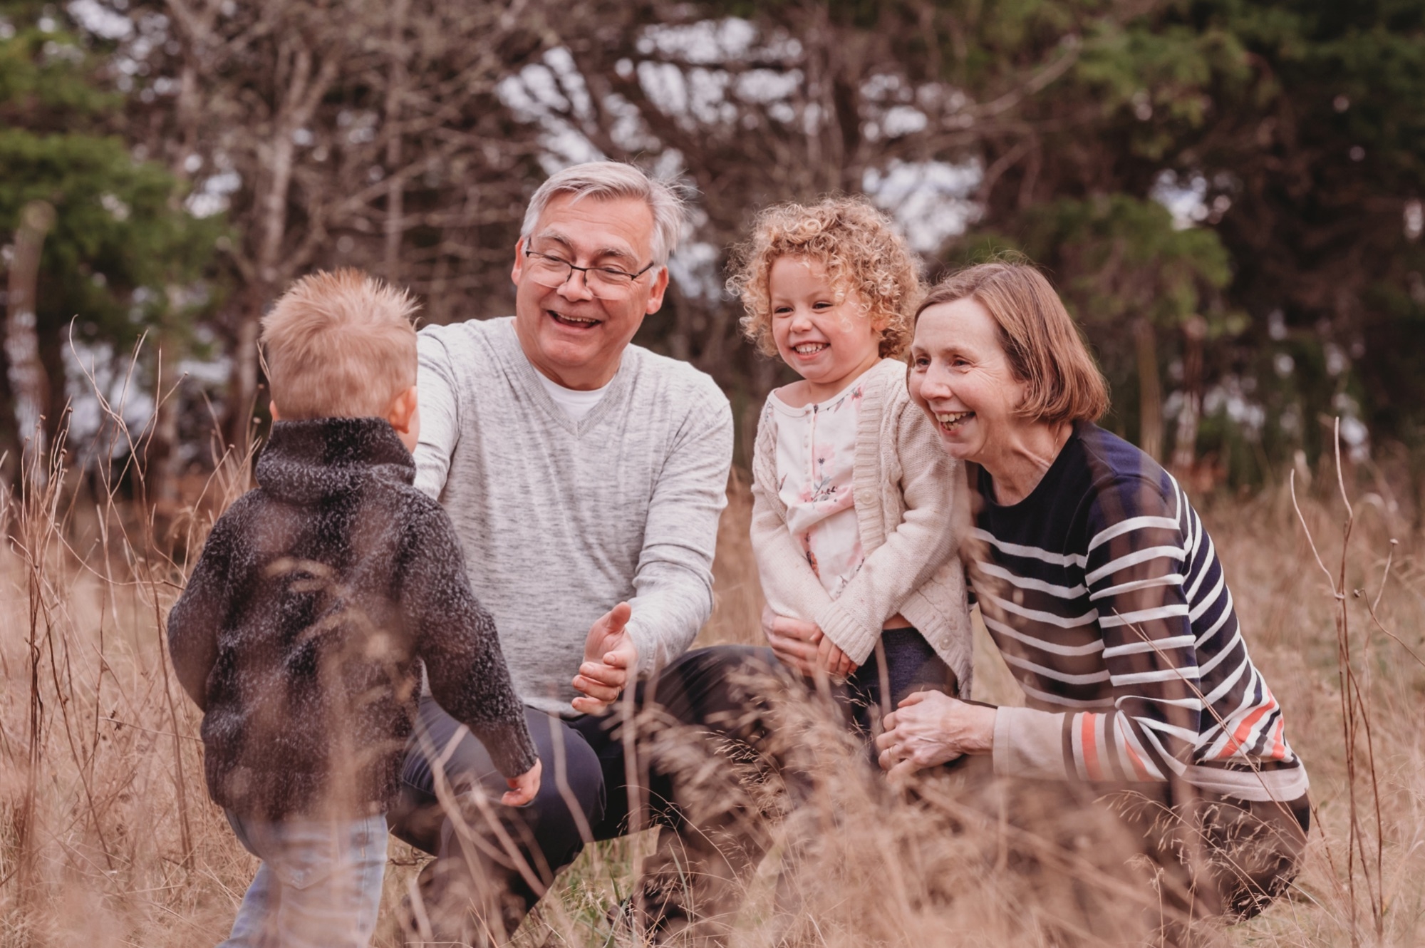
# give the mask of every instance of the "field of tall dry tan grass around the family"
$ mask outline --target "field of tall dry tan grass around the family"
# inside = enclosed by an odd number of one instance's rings
[[[214,480],[204,502],[157,537],[130,508],[58,490],[30,492],[0,515],[11,537],[0,550],[0,947],[204,945],[225,935],[255,861],[204,791],[198,714],[161,647],[182,569],[152,550],[174,537],[195,549],[235,488]],[[750,500],[740,483],[730,495],[704,643],[757,634]],[[1315,803],[1305,870],[1290,898],[1253,922],[1208,932],[1210,941],[1425,939],[1425,553],[1379,498],[1352,499],[1355,523],[1342,547],[1347,512],[1335,485],[1302,498],[1317,553],[1282,489],[1203,505]],[[976,697],[1016,696],[992,649],[978,649]],[[828,753],[855,758],[854,748]],[[788,932],[825,945],[1092,941],[1076,938],[1084,932],[1054,904],[1082,897],[1076,877],[1094,854],[1040,854],[1037,878],[1026,882],[1006,870],[995,827],[976,830],[955,815],[953,801],[886,805],[874,774],[855,766],[832,774],[811,815],[799,828],[788,821],[751,882],[734,944],[771,945]],[[641,834],[590,847],[519,939],[628,944],[610,908],[650,845]],[[774,918],[778,862],[792,850],[815,884],[797,918]],[[383,947],[399,944],[395,907],[420,861],[395,841],[390,858],[376,939]],[[1113,904],[1113,892],[1090,892],[1076,911]]]

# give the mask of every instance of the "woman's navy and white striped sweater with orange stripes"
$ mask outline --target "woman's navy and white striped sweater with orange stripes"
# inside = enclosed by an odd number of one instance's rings
[[[983,469],[978,490],[962,556],[1030,706],[999,713],[998,771],[1186,780],[1243,800],[1307,791],[1211,537],[1161,466],[1079,423],[1019,503],[995,503]]]

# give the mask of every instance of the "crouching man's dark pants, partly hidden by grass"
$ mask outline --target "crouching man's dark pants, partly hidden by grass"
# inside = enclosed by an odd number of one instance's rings
[[[660,834],[658,852],[644,865],[643,892],[636,900],[640,921],[654,929],[687,927],[694,929],[687,934],[718,939],[737,911],[738,882],[755,868],[765,840],[757,814],[735,803],[741,798],[732,785],[738,768],[695,764],[731,747],[755,757],[764,731],[748,689],[777,674],[777,667],[768,649],[718,646],[684,653],[636,687],[631,734],[624,728],[626,704],[606,716],[574,718],[527,709],[544,770],[540,791],[527,807],[490,804],[507,841],[469,805],[462,820],[476,828],[475,834],[462,833],[440,810],[432,761],[442,754],[447,754],[443,771],[456,791],[477,783],[494,800],[506,784],[484,747],[467,731],[460,734],[460,726],[433,700],[423,699],[402,773],[402,801],[389,818],[399,838],[436,857],[425,901],[439,902],[435,908],[446,915],[450,910],[463,914],[473,901],[483,905],[476,908],[482,925],[503,925],[513,934],[586,841],[624,835],[647,820],[671,833]],[[677,753],[670,754],[670,747]],[[734,751],[734,757],[748,760],[747,753]],[[698,771],[697,788],[690,770]],[[710,787],[710,773],[728,784]],[[720,794],[721,803],[712,800]],[[509,854],[512,845],[517,860]],[[660,878],[660,872],[670,878]],[[690,887],[690,880],[697,884]],[[496,905],[500,919],[490,918]]]

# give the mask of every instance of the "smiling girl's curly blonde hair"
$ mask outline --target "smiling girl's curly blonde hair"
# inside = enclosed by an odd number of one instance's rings
[[[838,301],[854,291],[865,301],[868,319],[885,321],[882,358],[905,352],[922,292],[921,261],[891,220],[862,197],[774,204],[757,215],[747,242],[734,248],[727,288],[741,297],[742,334],[760,352],[777,355],[768,278],[777,258],[788,254],[819,262]]]

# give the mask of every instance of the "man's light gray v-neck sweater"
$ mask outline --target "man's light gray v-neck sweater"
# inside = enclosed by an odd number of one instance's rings
[[[630,345],[574,422],[513,318],[428,326],[419,345],[416,488],[455,522],[520,697],[571,714],[589,627],[623,600],[640,674],[685,650],[712,610],[732,460],[712,379]]]

